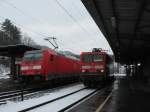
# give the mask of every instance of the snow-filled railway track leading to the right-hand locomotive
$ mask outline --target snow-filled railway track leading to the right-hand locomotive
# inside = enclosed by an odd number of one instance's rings
[[[99,89],[92,90],[92,89],[82,88],[82,89],[79,89],[77,91],[65,94],[63,96],[51,99],[49,101],[46,101],[46,102],[31,106],[29,108],[20,110],[19,112],[40,112],[40,111],[43,111],[43,112],[47,112],[47,111],[48,112],[50,112],[50,111],[64,112],[64,111],[74,107],[78,103],[86,100],[87,98],[94,95],[98,91],[104,91],[105,89],[106,88],[103,88],[101,90],[99,90]],[[74,97],[79,96],[79,95],[82,95],[82,97],[80,97],[79,99],[74,99]],[[60,102],[65,103],[65,99],[71,99],[71,100],[74,99],[74,101],[72,101],[71,103],[66,104],[66,105],[64,104],[65,106],[60,108],[60,109],[59,109],[59,107],[58,108],[56,107],[56,110],[51,110],[51,107],[55,107],[56,105],[59,105]]]

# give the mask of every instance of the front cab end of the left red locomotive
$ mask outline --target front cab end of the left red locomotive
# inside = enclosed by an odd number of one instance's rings
[[[46,68],[55,53],[49,50],[34,50],[24,54],[21,76],[26,80],[46,80]]]

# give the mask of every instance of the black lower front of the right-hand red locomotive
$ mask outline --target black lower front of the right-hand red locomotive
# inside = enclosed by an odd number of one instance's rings
[[[110,77],[104,73],[84,73],[80,75],[81,82],[86,87],[103,87],[110,81]]]

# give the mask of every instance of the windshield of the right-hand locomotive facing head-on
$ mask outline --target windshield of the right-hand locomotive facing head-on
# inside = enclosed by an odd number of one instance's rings
[[[103,56],[99,54],[83,54],[82,55],[83,62],[99,62],[103,61]]]

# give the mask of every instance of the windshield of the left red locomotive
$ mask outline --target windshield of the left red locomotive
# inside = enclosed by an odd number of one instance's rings
[[[25,61],[40,60],[42,59],[42,57],[43,57],[42,52],[26,53],[23,57],[23,60]]]

